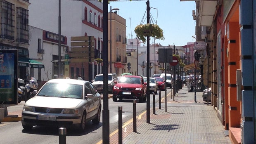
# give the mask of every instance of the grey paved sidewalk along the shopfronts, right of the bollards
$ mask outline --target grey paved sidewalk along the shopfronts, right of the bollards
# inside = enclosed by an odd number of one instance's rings
[[[197,103],[194,92],[187,92],[186,87],[178,91],[175,101],[168,95],[167,112],[162,99],[161,109],[156,103],[156,114],[151,109],[150,123],[146,113],[138,116],[137,132],[133,132],[133,122],[124,124],[123,144],[231,144],[216,110],[202,101],[202,92],[196,93]],[[112,133],[110,144],[118,143],[118,132]]]

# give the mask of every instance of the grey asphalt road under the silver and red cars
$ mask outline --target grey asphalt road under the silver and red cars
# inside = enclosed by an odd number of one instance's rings
[[[170,92],[171,89],[168,89]],[[161,92],[161,97],[164,97],[164,91]],[[153,95],[150,94],[150,107],[153,106]],[[156,105],[158,106],[159,95],[156,94]],[[103,100],[102,100],[103,104]],[[137,100],[136,113],[137,116],[146,111],[146,102],[139,103]],[[15,111],[22,109],[24,102],[17,106],[9,106],[8,111]],[[133,100],[123,99],[122,101],[113,102],[109,99],[109,132],[114,132],[118,129],[118,107],[123,107],[123,123],[133,119]],[[163,105],[164,107],[164,105]],[[102,106],[103,109],[103,106]],[[101,113],[102,115],[102,113]],[[67,144],[96,144],[102,140],[102,116],[100,124],[94,125],[91,122],[87,123],[85,132],[78,132],[75,129],[66,129],[66,143]],[[33,127],[33,130],[26,131],[18,122],[0,123],[0,143],[2,144],[56,144],[59,142],[58,127]]]

